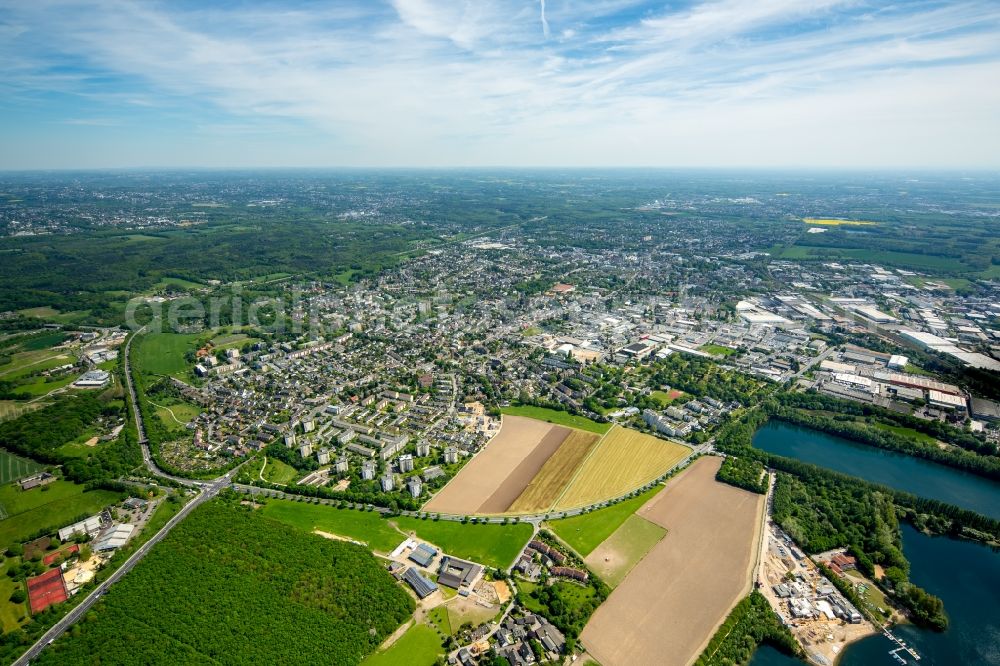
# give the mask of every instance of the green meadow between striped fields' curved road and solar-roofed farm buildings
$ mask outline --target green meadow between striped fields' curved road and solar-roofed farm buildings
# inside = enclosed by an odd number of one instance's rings
[[[463,525],[449,520],[420,520],[399,516],[393,518],[405,532],[430,541],[449,555],[472,560],[495,569],[506,569],[531,538],[531,525]],[[398,543],[398,541],[397,541]]]

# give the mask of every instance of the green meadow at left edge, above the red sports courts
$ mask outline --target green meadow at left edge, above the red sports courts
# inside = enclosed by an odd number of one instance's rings
[[[0,505],[8,516],[0,520],[0,547],[22,541],[43,529],[64,527],[78,516],[95,514],[119,498],[118,493],[84,492],[83,488],[69,481],[56,481],[28,491],[15,485],[0,487]]]

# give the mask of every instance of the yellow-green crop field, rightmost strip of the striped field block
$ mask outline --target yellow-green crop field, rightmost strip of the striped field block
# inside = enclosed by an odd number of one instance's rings
[[[691,449],[615,426],[580,466],[553,509],[572,509],[625,495],[656,479]]]

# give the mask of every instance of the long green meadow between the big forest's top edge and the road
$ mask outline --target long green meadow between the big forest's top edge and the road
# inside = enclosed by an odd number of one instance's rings
[[[304,532],[320,530],[367,543],[381,553],[389,553],[400,544],[400,534],[381,514],[373,511],[337,509],[323,504],[269,499],[260,510],[268,518]]]

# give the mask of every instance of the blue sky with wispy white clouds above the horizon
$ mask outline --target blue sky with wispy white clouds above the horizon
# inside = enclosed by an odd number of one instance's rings
[[[1000,2],[0,0],[0,169],[1000,167]]]

